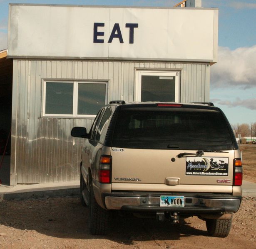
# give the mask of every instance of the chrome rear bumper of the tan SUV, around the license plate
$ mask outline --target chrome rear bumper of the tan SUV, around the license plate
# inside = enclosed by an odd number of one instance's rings
[[[109,210],[130,211],[167,211],[184,214],[202,214],[217,212],[237,212],[240,207],[241,197],[223,196],[186,196],[184,207],[160,207],[160,195],[125,196],[117,194],[105,195],[105,206]]]

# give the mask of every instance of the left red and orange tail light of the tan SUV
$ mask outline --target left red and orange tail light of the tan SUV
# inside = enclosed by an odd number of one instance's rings
[[[99,159],[99,182],[111,183],[112,156],[102,155]]]

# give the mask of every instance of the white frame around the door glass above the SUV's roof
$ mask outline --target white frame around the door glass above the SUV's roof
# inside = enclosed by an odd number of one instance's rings
[[[175,77],[175,100],[174,102],[180,102],[180,71],[160,71],[160,70],[137,70],[136,71],[136,84],[134,88],[134,101],[141,101],[142,91],[142,76],[165,76]]]

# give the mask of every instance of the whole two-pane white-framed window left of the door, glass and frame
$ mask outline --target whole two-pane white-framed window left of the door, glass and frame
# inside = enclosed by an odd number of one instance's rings
[[[94,118],[106,104],[107,82],[43,82],[42,117]]]

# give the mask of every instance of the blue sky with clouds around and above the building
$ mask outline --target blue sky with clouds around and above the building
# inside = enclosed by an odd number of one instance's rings
[[[7,49],[9,3],[174,7],[181,0],[0,0],[0,50]],[[218,62],[210,101],[233,125],[256,122],[256,0],[201,0],[219,8]],[[250,124],[251,125],[251,124]]]

